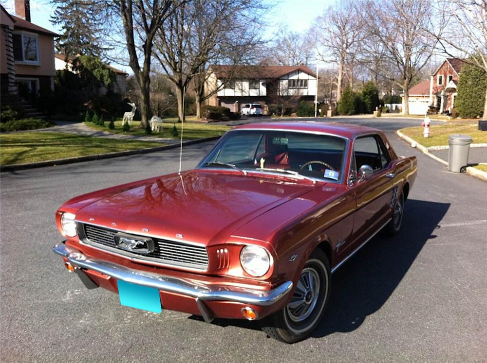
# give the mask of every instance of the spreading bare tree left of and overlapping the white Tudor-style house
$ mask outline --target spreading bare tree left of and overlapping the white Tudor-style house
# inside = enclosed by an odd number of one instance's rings
[[[259,0],[193,0],[176,8],[159,28],[155,56],[176,87],[179,120],[183,93],[195,77],[199,116],[209,62],[238,63],[260,41],[262,8]]]

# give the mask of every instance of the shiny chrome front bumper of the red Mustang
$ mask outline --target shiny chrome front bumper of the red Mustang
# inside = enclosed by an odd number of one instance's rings
[[[153,287],[169,293],[191,296],[202,301],[222,300],[267,306],[281,300],[293,287],[292,281],[286,281],[275,289],[268,291],[227,285],[203,285],[189,279],[134,270],[112,262],[91,259],[75,248],[66,246],[64,243],[57,244],[53,250],[56,254],[68,259],[72,265],[79,268],[97,271],[117,280]]]

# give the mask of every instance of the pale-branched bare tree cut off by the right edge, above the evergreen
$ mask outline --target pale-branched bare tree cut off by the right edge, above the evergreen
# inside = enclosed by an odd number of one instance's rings
[[[487,72],[487,0],[437,2],[439,22],[427,29],[439,42],[441,52],[464,57],[466,63]],[[487,120],[487,89],[483,119]]]

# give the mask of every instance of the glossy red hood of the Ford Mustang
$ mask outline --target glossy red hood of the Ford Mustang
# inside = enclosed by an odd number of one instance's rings
[[[75,198],[79,222],[206,245],[315,187],[290,178],[191,170]],[[74,210],[77,205],[80,209]]]

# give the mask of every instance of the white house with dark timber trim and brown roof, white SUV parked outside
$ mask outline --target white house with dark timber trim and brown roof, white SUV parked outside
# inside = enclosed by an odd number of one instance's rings
[[[305,66],[213,65],[206,85],[207,104],[240,112],[245,104],[283,104],[314,101],[316,74]]]

